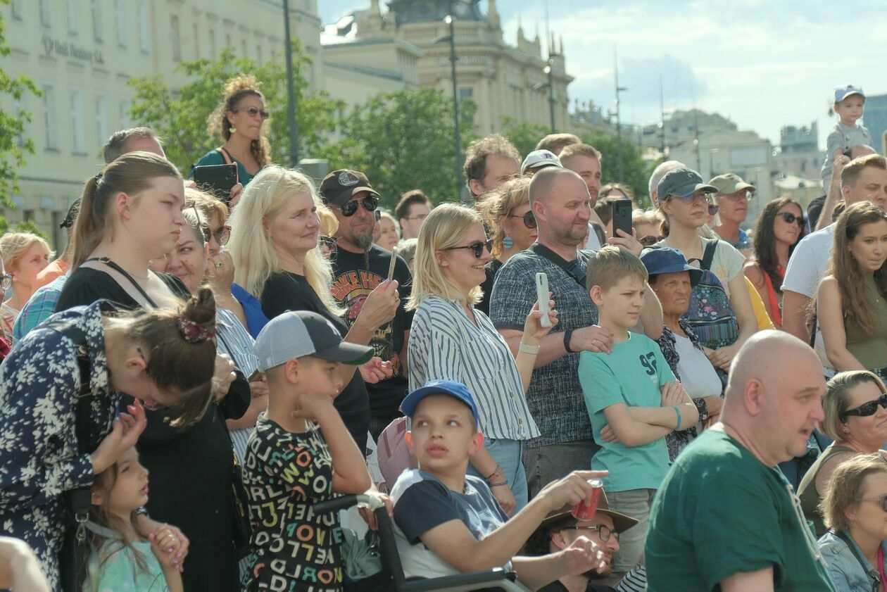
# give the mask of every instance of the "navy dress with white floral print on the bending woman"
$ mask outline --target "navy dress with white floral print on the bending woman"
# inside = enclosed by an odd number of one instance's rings
[[[102,319],[114,306],[98,301],[53,315],[86,335],[90,357],[89,449],[111,431],[119,399],[110,391]],[[0,365],[0,534],[27,542],[51,586],[59,589],[64,536],[62,493],[92,484],[92,462],[77,453],[75,399],[80,369],[75,344],[38,327]]]

